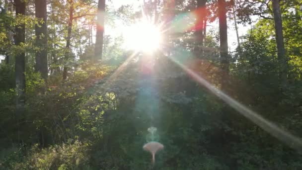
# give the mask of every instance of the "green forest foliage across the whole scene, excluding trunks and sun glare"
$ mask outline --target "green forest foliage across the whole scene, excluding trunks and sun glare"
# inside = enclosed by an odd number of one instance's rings
[[[169,35],[162,51],[154,52],[150,59],[152,74],[146,74],[142,68],[148,57],[144,53],[132,56],[133,51],[123,49],[122,36],[105,35],[103,60],[91,63],[94,18],[87,15],[74,20],[72,54],[66,61],[66,8],[70,4],[66,0],[49,2],[48,80],[34,71],[34,16],[0,13],[0,54],[11,55],[8,64],[0,64],[0,170],[302,169],[301,153],[228,107],[170,60],[219,87],[215,30],[208,30],[200,58],[192,52],[194,32]],[[240,22],[251,21],[251,13],[271,16],[268,8],[248,9],[255,4],[244,2],[237,6]],[[75,15],[85,14],[93,4],[75,0]],[[176,13],[195,5],[195,0],[176,0]],[[215,1],[211,7],[209,12],[215,12]],[[242,37],[241,49],[230,54],[227,85],[228,95],[297,136],[302,134],[300,7],[298,0],[282,1],[289,84],[280,88],[274,22],[259,19]],[[29,7],[28,13],[34,13],[33,9]],[[115,17],[132,23],[141,15],[128,5],[107,9],[106,24],[110,26],[118,26]],[[159,9],[159,21],[163,21],[165,11],[162,6]],[[26,42],[16,47],[8,33],[19,23],[26,23]],[[23,115],[15,115],[13,56],[20,51],[26,52],[26,105]],[[65,81],[63,66],[70,68]],[[151,126],[157,128],[153,136],[148,131]],[[142,148],[150,141],[164,145],[154,165],[150,153]]]

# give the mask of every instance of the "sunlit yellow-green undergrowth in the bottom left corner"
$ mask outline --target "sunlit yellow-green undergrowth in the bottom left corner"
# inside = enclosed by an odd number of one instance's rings
[[[78,141],[39,149],[28,148],[3,150],[0,169],[5,170],[89,170],[88,144]]]

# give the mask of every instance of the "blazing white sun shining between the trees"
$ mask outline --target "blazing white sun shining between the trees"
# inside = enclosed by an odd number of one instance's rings
[[[148,21],[140,21],[127,27],[124,38],[127,49],[141,52],[154,52],[161,44],[160,29]]]

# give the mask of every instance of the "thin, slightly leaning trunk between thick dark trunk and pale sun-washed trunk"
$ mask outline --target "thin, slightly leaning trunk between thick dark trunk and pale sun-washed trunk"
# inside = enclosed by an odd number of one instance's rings
[[[72,37],[72,28],[73,28],[73,20],[74,20],[74,0],[69,0],[70,8],[69,8],[69,20],[68,20],[68,32],[67,32],[67,38],[66,38],[66,52],[65,52],[65,61],[67,62],[70,55],[70,41]],[[63,68],[63,80],[66,80],[67,78],[67,71],[68,66],[64,66]]]

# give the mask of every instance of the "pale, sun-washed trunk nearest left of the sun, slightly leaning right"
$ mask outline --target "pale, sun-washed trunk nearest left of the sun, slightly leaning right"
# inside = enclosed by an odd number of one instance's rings
[[[98,0],[94,61],[102,59],[104,41],[105,0]]]

